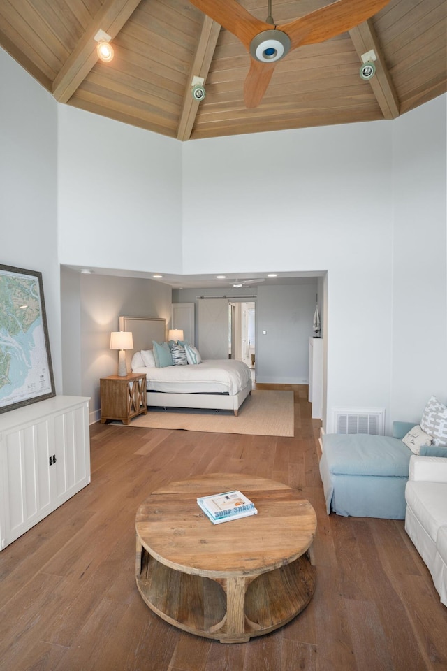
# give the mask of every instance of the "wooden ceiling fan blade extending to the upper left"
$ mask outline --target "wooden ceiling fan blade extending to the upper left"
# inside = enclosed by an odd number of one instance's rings
[[[256,19],[236,0],[190,0],[190,2],[239,38],[247,50],[251,40],[258,33],[272,28],[270,24]]]

